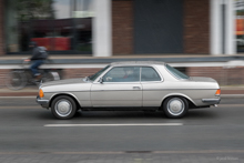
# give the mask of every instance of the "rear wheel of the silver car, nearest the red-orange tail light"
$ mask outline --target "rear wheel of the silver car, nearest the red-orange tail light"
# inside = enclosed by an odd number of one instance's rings
[[[184,98],[167,98],[163,103],[163,111],[167,118],[183,118],[189,111],[189,102]]]

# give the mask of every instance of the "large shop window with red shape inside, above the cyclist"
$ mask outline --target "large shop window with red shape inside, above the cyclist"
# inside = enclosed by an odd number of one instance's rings
[[[6,0],[8,53],[27,53],[30,41],[51,53],[91,53],[92,0]]]

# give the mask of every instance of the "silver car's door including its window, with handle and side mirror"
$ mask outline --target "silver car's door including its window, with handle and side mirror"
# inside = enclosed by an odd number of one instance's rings
[[[101,79],[91,86],[93,108],[142,106],[140,67],[114,67]]]

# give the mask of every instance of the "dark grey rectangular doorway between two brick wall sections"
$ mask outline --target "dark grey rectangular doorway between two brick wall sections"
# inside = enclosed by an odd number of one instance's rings
[[[183,53],[183,1],[134,1],[134,52]]]

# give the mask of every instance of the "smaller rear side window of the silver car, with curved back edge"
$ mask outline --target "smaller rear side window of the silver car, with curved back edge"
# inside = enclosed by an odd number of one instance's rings
[[[150,67],[142,68],[141,81],[161,81],[159,73]]]

